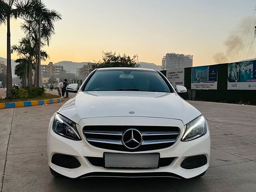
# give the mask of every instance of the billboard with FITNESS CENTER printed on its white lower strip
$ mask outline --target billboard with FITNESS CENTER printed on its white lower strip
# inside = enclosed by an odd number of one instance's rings
[[[256,90],[256,60],[228,64],[228,89]]]

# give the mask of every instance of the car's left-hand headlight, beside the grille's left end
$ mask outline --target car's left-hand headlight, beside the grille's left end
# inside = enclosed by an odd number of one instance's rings
[[[52,130],[60,136],[77,141],[81,140],[76,129],[76,123],[60,114],[55,115]]]

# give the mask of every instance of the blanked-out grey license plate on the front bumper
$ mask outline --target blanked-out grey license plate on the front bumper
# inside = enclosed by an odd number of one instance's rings
[[[105,168],[159,168],[160,154],[104,153]]]

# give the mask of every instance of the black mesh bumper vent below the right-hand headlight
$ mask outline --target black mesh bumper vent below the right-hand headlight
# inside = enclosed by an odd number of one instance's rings
[[[197,155],[185,158],[180,166],[184,169],[194,169],[202,167],[207,164],[207,157],[205,155]]]

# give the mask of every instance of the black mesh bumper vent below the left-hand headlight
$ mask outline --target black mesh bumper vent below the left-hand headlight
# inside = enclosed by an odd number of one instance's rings
[[[54,154],[52,156],[52,163],[69,169],[75,169],[81,166],[77,158],[64,154]]]

